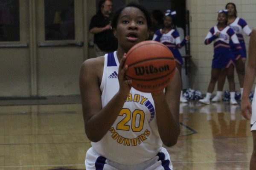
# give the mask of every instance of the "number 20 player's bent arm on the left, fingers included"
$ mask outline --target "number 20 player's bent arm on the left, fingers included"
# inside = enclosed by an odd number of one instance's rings
[[[87,59],[81,66],[79,77],[85,133],[92,142],[101,140],[111,128],[131,89],[129,81],[124,78],[127,67],[119,67],[119,91],[102,108],[100,84],[103,67],[104,57]]]

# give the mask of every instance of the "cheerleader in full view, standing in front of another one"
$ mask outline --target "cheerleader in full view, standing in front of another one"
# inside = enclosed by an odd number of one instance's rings
[[[234,45],[236,45],[236,48],[239,50],[242,57],[244,57],[244,53],[241,50],[241,46],[235,32],[232,28],[227,26],[227,12],[227,10],[218,11],[218,24],[217,26],[214,26],[210,29],[204,40],[204,43],[206,45],[210,44],[213,40],[215,40],[210,84],[208,86],[206,97],[199,100],[199,102],[207,105],[210,104],[210,97],[212,95],[212,91],[214,90],[215,83],[217,82],[218,76],[223,68],[227,74],[227,79],[229,82],[230,104],[237,105],[235,99],[234,82],[235,64],[233,54],[230,52],[230,39],[233,41]]]

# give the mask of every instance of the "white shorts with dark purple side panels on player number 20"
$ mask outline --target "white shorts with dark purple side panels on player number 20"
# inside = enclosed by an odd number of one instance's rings
[[[135,165],[118,164],[100,156],[91,147],[85,158],[86,170],[173,170],[169,153],[162,147],[154,158]]]

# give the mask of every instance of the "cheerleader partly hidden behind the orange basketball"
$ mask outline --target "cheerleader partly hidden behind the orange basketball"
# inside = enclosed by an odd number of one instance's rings
[[[183,64],[182,57],[178,48],[182,48],[186,41],[189,40],[189,36],[186,36],[182,42],[180,42],[180,35],[178,31],[175,30],[175,25],[173,23],[176,11],[167,10],[165,12],[165,17],[163,20],[163,29],[157,30],[154,34],[153,40],[158,41],[166,45],[175,57],[176,67],[180,71],[181,77],[181,65]],[[183,91],[180,93],[180,102],[187,102],[187,100],[182,96]]]

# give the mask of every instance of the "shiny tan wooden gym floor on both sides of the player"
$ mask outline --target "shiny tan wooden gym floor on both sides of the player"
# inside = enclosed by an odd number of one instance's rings
[[[248,170],[250,122],[229,102],[180,104],[174,170]],[[79,96],[0,99],[0,170],[84,170],[90,141]]]

